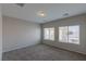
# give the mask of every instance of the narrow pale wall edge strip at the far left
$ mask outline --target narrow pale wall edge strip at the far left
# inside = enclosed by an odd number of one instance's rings
[[[0,61],[2,60],[2,15],[1,15],[1,4],[0,4]]]

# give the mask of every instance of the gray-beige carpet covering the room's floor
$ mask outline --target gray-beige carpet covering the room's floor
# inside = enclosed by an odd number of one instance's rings
[[[37,44],[3,53],[3,61],[86,61],[86,55]]]

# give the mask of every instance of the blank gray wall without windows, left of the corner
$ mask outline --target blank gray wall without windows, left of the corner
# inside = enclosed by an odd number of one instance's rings
[[[40,25],[14,17],[2,16],[3,52],[40,42]]]

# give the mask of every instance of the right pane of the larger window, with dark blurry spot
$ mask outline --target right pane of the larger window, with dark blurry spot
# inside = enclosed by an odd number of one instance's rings
[[[69,26],[69,42],[79,43],[79,26]]]

